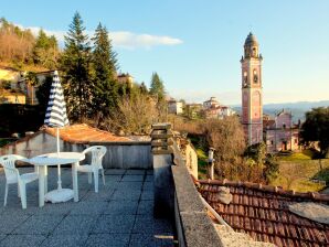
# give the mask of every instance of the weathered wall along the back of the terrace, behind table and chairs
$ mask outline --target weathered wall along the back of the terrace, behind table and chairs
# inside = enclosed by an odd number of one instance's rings
[[[103,167],[107,169],[152,169],[151,144],[149,141],[129,142],[91,142],[88,144],[71,143],[60,140],[62,152],[82,152],[84,149],[100,144],[107,152]],[[56,152],[56,138],[38,132],[0,149],[0,155],[20,154],[26,158]],[[87,161],[88,161],[87,157]]]

